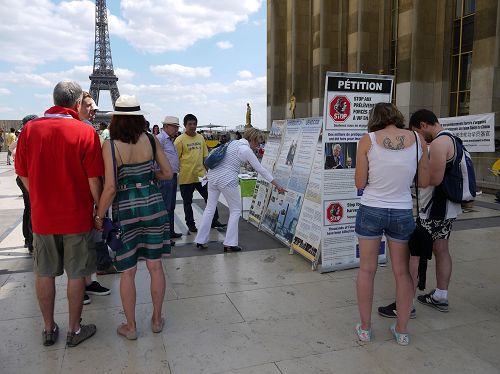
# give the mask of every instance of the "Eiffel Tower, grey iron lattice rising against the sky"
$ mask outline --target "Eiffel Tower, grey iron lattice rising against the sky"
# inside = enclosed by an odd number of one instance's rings
[[[94,71],[89,78],[90,95],[96,104],[99,104],[100,91],[108,90],[111,94],[111,102],[114,108],[115,101],[120,96],[120,92],[116,85],[118,77],[113,70],[113,60],[111,58],[106,0],[96,0],[95,2]]]

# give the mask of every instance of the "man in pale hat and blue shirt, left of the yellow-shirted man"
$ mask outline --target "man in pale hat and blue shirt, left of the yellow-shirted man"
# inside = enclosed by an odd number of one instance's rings
[[[172,179],[160,181],[160,192],[163,196],[163,201],[168,212],[170,221],[170,238],[180,238],[182,234],[174,230],[174,209],[177,195],[177,174],[179,173],[179,155],[174,145],[174,140],[179,131],[179,118],[174,116],[166,116],[162,122],[163,129],[156,136],[160,142],[161,148],[167,156],[170,166],[172,167]],[[175,242],[172,242],[172,244]]]

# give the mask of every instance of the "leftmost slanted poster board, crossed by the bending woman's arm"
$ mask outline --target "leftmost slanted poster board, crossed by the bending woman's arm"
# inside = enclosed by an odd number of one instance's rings
[[[280,152],[282,133],[285,129],[285,124],[285,120],[273,121],[267,137],[261,164],[271,173],[274,172],[274,165]],[[270,183],[259,175],[257,177],[257,183],[250,205],[250,213],[248,215],[248,221],[255,226],[259,226],[260,224],[270,191]]]

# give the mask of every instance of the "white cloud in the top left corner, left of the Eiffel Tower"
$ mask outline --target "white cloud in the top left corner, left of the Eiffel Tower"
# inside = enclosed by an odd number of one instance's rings
[[[24,65],[88,60],[94,16],[89,0],[0,1],[0,60]]]

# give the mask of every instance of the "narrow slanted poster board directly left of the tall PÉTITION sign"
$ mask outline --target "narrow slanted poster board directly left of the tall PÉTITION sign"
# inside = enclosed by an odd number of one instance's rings
[[[295,237],[291,243],[294,251],[310,261],[315,261],[321,244],[321,172],[323,169],[323,144],[321,139],[316,145],[313,167],[307,185],[304,203],[300,211]]]

